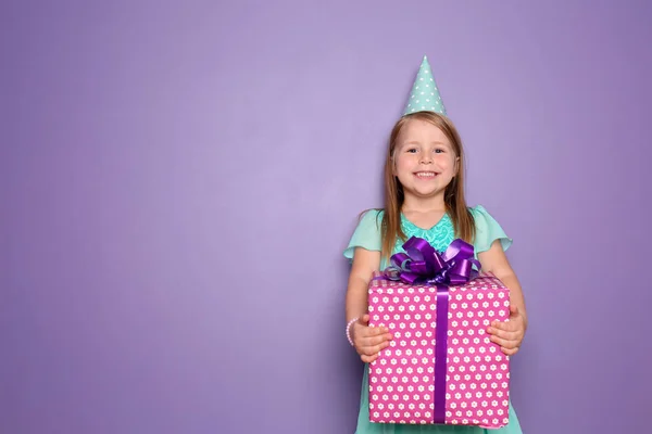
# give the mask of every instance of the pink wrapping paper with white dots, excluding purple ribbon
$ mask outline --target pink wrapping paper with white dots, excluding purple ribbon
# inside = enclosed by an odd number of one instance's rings
[[[373,280],[368,304],[369,324],[394,335],[369,365],[369,420],[434,423],[437,288]],[[449,286],[446,424],[507,423],[510,360],[486,330],[509,312],[509,290],[492,275]]]

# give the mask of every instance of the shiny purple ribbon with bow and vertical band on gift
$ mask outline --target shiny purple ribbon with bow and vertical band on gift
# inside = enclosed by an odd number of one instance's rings
[[[434,423],[446,419],[446,359],[448,355],[449,285],[466,283],[476,278],[480,263],[474,258],[473,245],[454,240],[440,254],[422,238],[412,237],[403,244],[405,253],[391,256],[384,278],[406,284],[437,285],[437,332],[435,345]],[[473,266],[477,267],[477,270]]]

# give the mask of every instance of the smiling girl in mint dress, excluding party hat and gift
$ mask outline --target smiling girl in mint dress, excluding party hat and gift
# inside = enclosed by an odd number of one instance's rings
[[[444,251],[455,238],[474,245],[481,269],[493,272],[511,293],[510,321],[493,322],[487,331],[504,354],[512,356],[518,350],[527,316],[521,285],[504,254],[512,240],[481,205],[466,206],[463,168],[462,142],[446,115],[412,111],[399,119],[385,163],[385,208],[364,214],[344,251],[352,260],[346,302],[347,335],[365,363],[374,361],[392,339],[387,329],[367,326],[372,273],[384,269],[392,254],[402,252],[402,244],[412,235],[426,239],[438,251]],[[369,422],[367,368],[365,365],[358,434],[488,432],[477,426]],[[510,423],[491,432],[522,433],[511,404]]]

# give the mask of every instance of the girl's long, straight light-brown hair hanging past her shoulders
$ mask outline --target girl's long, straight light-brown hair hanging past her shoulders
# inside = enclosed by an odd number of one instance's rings
[[[425,120],[439,128],[450,140],[455,156],[460,158],[457,173],[444,190],[443,202],[446,210],[453,222],[455,238],[461,238],[467,243],[473,243],[475,239],[475,221],[466,207],[464,199],[464,149],[462,139],[448,117],[434,112],[415,112],[402,116],[394,125],[389,138],[389,149],[385,161],[385,213],[381,221],[381,256],[386,259],[389,259],[397,240],[406,241],[406,235],[401,229],[401,207],[405,197],[403,187],[394,176],[393,159],[397,138],[405,124],[412,119]]]

